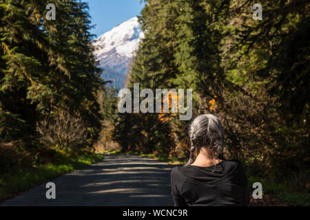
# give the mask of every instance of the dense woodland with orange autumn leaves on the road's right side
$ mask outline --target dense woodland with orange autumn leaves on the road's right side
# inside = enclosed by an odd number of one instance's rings
[[[145,39],[128,87],[194,89],[194,117],[225,126],[227,158],[251,175],[309,183],[309,1],[149,0],[139,18]],[[189,122],[178,115],[114,118],[123,150],[188,157]],[[308,184],[309,187],[309,184]],[[309,190],[309,188],[308,188]]]

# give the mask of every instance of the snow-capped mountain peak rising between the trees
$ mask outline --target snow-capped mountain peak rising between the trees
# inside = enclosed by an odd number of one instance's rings
[[[111,80],[114,87],[124,87],[128,66],[143,37],[138,18],[134,17],[95,39],[94,54],[103,68],[104,80]]]

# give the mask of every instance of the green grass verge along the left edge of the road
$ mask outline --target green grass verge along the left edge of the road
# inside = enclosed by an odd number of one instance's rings
[[[12,167],[0,175],[0,202],[15,197],[45,181],[103,159],[103,155],[85,153],[74,158],[61,158],[32,168]]]

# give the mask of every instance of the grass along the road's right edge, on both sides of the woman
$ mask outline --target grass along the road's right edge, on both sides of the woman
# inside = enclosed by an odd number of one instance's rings
[[[144,154],[133,151],[122,153],[121,150],[111,150],[103,151],[102,153],[149,157],[176,166],[183,166],[187,162],[186,160],[180,160],[176,157],[158,157],[154,154]],[[252,206],[310,206],[310,196],[307,188],[297,192],[293,187],[289,186],[289,184],[281,184],[277,181],[271,181],[270,179],[262,179],[250,173],[247,173],[247,177],[249,180]],[[292,181],[294,180],[292,179]],[[252,193],[255,190],[252,186],[255,182],[260,182],[262,184],[262,199],[253,199],[252,197]]]

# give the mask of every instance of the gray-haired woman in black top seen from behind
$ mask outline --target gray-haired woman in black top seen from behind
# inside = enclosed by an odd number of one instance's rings
[[[224,128],[220,120],[211,114],[198,116],[189,128],[189,138],[189,161],[171,173],[174,205],[247,206],[247,177],[238,160],[223,157]]]

